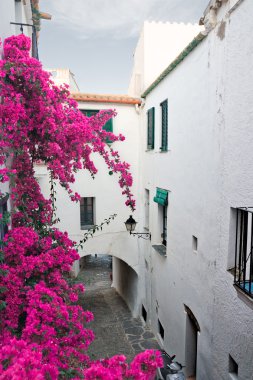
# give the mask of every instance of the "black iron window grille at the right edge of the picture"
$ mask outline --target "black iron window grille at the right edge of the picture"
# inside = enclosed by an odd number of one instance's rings
[[[236,210],[234,284],[253,298],[253,207]]]

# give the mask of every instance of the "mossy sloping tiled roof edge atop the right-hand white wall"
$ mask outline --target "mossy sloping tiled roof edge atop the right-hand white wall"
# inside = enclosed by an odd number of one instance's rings
[[[169,66],[151,83],[151,85],[143,92],[142,98],[146,96],[164,79],[166,78],[178,65],[182,62],[187,55],[189,55],[205,38],[207,34],[200,32],[193,40],[181,51],[181,53],[172,61]]]

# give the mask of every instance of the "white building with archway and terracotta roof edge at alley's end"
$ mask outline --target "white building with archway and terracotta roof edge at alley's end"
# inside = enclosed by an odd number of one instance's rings
[[[139,173],[139,128],[141,100],[127,95],[98,95],[72,93],[78,102],[79,109],[87,116],[99,110],[115,109],[117,116],[106,125],[107,130],[116,135],[122,134],[126,140],[112,143],[112,148],[120,152],[123,161],[131,165],[134,179],[133,193],[138,194]],[[122,189],[118,185],[117,174],[109,175],[104,160],[97,154],[93,155],[98,173],[92,179],[86,170],[80,170],[76,182],[72,185],[74,192],[81,196],[81,202],[74,203],[66,191],[57,186],[57,216],[60,218],[58,227],[69,233],[72,240],[79,242],[93,225],[100,225],[105,219],[116,214],[114,220],[103,229],[96,232],[79,249],[82,257],[91,254],[106,254],[113,258],[113,286],[119,290],[134,315],[139,314],[141,304],[140,291],[140,255],[137,239],[129,239],[124,222],[129,217],[125,206]],[[43,192],[49,196],[49,177],[44,165],[37,165],[36,174]],[[139,203],[139,202],[138,202]],[[82,259],[75,263],[75,273],[82,266]]]

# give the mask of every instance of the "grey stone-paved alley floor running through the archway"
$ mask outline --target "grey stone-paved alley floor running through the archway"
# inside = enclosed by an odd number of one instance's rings
[[[96,336],[88,350],[90,357],[95,360],[124,354],[131,360],[145,349],[159,349],[151,330],[139,318],[132,318],[125,302],[111,288],[111,258],[88,256],[82,265],[78,280],[85,284],[86,292],[81,302],[95,317],[90,323]]]

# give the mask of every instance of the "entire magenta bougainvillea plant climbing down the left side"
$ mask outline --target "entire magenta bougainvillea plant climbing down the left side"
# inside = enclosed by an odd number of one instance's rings
[[[156,351],[130,365],[124,356],[88,357],[93,315],[77,303],[83,286],[68,277],[79,255],[55,227],[53,200],[44,198],[34,173],[34,163],[44,162],[51,180],[78,201],[71,189],[75,173],[95,175],[97,153],[118,173],[126,205],[134,209],[129,165],[106,144],[124,137],[102,129],[115,112],[85,117],[67,87],[56,87],[29,52],[28,37],[12,36],[0,61],[0,182],[9,183],[11,203],[11,226],[0,246],[0,379],[152,379],[162,364]],[[1,224],[7,219],[0,215]]]

